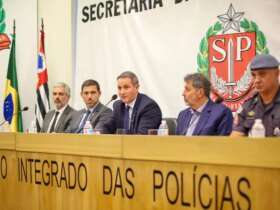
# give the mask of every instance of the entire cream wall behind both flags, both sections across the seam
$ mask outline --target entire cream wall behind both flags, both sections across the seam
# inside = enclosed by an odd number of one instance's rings
[[[17,23],[17,74],[21,106],[26,130],[32,119],[36,100],[38,39],[41,18],[45,26],[45,48],[49,87],[63,81],[72,86],[72,0],[9,0],[3,1],[6,11],[6,33],[12,33],[12,20]],[[38,27],[37,27],[38,26]],[[0,122],[3,120],[3,99],[9,50],[0,52]]]

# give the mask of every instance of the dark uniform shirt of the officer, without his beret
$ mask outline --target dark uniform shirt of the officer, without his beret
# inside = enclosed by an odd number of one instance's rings
[[[272,103],[264,105],[259,94],[246,101],[238,114],[233,130],[248,135],[255,119],[262,119],[265,136],[274,136],[274,130],[280,128],[280,89]]]

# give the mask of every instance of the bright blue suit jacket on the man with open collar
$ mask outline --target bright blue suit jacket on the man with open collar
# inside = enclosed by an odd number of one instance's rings
[[[192,114],[190,108],[180,112],[177,118],[177,135],[186,134],[187,125],[189,124],[191,117]],[[232,123],[233,117],[231,110],[223,104],[216,104],[209,100],[201,113],[193,135],[229,135],[232,131]]]

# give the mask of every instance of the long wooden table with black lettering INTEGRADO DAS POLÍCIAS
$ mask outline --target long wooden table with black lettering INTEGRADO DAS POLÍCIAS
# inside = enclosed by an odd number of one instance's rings
[[[0,133],[0,210],[279,210],[279,140]]]

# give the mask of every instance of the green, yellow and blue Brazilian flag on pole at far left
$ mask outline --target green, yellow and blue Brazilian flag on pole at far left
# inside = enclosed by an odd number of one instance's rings
[[[22,115],[18,94],[17,68],[16,68],[16,35],[12,36],[6,89],[4,94],[4,118],[10,125],[11,132],[22,132]]]

